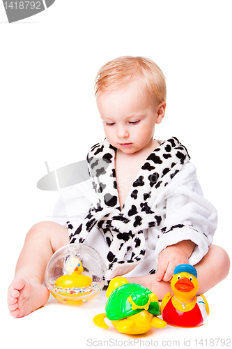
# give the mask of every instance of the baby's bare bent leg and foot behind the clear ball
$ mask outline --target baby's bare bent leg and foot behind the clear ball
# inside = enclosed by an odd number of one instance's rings
[[[8,289],[10,315],[20,318],[45,305],[49,291],[42,285],[47,262],[69,243],[68,230],[53,222],[33,225],[17,261],[15,279]]]

